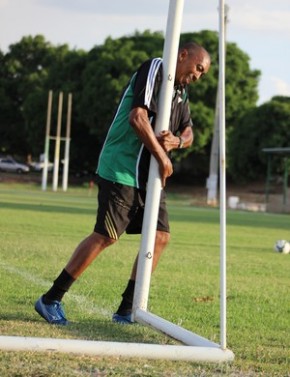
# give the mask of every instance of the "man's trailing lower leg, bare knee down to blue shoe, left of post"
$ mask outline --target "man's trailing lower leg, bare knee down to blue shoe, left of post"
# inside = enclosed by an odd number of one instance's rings
[[[102,250],[115,242],[95,232],[85,238],[78,245],[52,287],[38,299],[35,310],[49,323],[66,325],[67,319],[61,306],[64,294]]]

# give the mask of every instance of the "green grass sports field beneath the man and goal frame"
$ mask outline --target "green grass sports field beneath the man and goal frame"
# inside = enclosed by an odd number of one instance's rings
[[[169,195],[171,242],[152,276],[149,310],[219,343],[219,211]],[[0,184],[1,335],[177,344],[140,324],[111,323],[138,236],[124,235],[65,296],[68,327],[50,326],[35,300],[51,285],[78,242],[91,232],[96,192],[41,192]],[[0,351],[0,376],[290,376],[289,216],[227,213],[227,339],[231,364],[99,358]]]

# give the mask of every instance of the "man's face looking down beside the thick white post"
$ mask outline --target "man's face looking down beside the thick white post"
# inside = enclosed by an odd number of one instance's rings
[[[210,58],[205,51],[190,53],[182,50],[177,58],[175,83],[181,86],[189,85],[207,73],[209,67]]]

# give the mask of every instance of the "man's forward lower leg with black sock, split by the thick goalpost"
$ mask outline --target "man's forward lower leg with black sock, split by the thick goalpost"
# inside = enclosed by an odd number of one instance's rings
[[[159,262],[160,256],[163,253],[166,245],[168,244],[170,239],[170,233],[162,232],[157,230],[156,238],[155,238],[155,247],[154,247],[154,257],[152,263],[152,273],[155,271],[157,264]],[[131,322],[131,313],[132,313],[132,305],[133,305],[133,297],[134,297],[134,289],[135,289],[135,280],[136,280],[136,273],[137,273],[137,264],[138,264],[138,255],[135,259],[130,280],[128,281],[127,287],[122,294],[122,301],[121,304],[113,315],[113,321],[119,323],[132,323]]]

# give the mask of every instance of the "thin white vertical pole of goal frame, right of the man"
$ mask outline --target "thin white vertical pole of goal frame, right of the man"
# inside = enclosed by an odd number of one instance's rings
[[[220,126],[220,344],[226,349],[226,147],[225,147],[225,6],[219,0]]]

